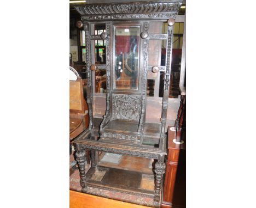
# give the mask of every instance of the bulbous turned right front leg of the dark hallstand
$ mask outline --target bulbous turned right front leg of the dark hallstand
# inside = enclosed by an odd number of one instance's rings
[[[165,163],[164,156],[159,156],[158,162],[155,163],[155,197],[154,197],[154,206],[160,207],[161,199],[161,187],[162,179],[165,174]]]

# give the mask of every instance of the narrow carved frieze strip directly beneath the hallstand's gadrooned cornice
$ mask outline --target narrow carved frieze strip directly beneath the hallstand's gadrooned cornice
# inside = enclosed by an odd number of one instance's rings
[[[177,13],[162,13],[162,14],[117,14],[117,15],[83,15],[82,20],[119,20],[119,19],[169,19],[175,18]]]

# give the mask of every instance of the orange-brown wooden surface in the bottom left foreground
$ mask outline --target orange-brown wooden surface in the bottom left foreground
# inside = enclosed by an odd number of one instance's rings
[[[69,208],[150,208],[95,195],[69,191]],[[152,208],[152,207],[151,207]]]

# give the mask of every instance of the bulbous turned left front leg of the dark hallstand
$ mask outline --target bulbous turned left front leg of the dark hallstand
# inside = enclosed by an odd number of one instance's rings
[[[80,184],[82,187],[82,191],[83,189],[86,188],[86,174],[85,174],[85,161],[86,161],[86,152],[84,149],[78,149],[75,152],[75,158],[76,161],[78,163],[78,167],[79,167],[79,173],[80,173]]]

